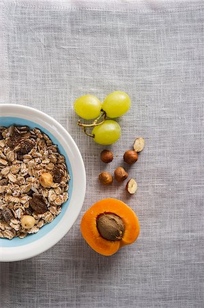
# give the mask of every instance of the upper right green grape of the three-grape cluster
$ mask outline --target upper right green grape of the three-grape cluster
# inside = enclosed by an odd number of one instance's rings
[[[122,116],[130,109],[130,97],[126,92],[115,91],[108,94],[102,104],[102,110],[108,118]]]

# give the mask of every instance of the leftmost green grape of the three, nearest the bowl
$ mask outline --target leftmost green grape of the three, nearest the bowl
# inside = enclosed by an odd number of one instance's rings
[[[74,110],[81,118],[91,120],[91,118],[97,118],[100,115],[101,106],[102,103],[97,97],[87,94],[76,99]]]

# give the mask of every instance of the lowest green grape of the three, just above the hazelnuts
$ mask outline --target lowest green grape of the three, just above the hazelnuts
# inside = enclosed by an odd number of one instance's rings
[[[94,141],[99,144],[112,144],[120,138],[121,129],[114,120],[105,120],[104,123],[93,128]]]

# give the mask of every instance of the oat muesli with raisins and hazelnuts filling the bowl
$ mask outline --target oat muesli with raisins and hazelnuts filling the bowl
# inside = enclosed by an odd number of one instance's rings
[[[65,157],[40,129],[0,127],[0,238],[37,233],[68,200]]]

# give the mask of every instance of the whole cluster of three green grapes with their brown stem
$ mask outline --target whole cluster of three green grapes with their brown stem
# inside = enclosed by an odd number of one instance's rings
[[[129,109],[130,97],[121,91],[108,94],[103,103],[91,94],[79,97],[74,103],[78,116],[85,120],[95,119],[91,124],[83,124],[78,120],[78,125],[98,144],[113,144],[119,139],[121,128],[112,119],[126,114]],[[91,133],[87,133],[87,128],[92,129]]]

